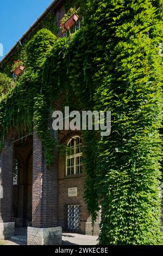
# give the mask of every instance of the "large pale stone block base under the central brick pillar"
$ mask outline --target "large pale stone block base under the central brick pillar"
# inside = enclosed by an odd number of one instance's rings
[[[62,228],[28,227],[27,245],[61,245]]]

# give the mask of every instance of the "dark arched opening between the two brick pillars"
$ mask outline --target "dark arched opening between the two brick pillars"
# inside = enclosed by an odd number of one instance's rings
[[[32,223],[33,138],[14,144],[13,217],[16,227]]]

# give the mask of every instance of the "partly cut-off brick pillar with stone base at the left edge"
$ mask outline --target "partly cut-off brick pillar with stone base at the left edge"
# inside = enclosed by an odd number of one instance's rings
[[[0,239],[14,235],[15,223],[12,218],[13,158],[14,145],[8,135],[0,152]]]

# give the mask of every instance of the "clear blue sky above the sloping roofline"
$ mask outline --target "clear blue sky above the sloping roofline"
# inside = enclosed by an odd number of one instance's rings
[[[3,44],[4,56],[52,2],[53,0],[1,1],[0,44]],[[0,61],[2,58],[0,56]]]

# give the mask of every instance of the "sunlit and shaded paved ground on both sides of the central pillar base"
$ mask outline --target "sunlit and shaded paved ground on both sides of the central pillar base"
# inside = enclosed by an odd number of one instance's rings
[[[63,233],[62,245],[97,245],[97,238],[97,236]],[[3,243],[4,245],[27,245],[27,229],[16,229],[16,236],[3,241]]]

